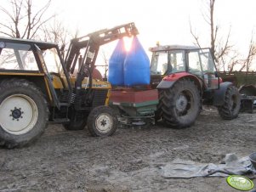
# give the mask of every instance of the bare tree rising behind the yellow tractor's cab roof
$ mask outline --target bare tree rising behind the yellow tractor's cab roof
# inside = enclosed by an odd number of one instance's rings
[[[48,0],[48,3],[37,10],[34,8],[32,0],[10,0],[7,4],[9,8],[0,6],[0,13],[6,15],[6,20],[1,18],[0,34],[8,37],[36,38],[37,31],[54,17],[51,15],[45,18],[45,12],[50,3],[51,0]]]

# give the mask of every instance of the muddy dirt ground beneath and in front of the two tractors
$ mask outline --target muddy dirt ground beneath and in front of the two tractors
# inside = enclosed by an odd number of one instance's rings
[[[193,127],[119,128],[108,138],[50,125],[30,147],[0,149],[0,191],[236,191],[225,178],[162,178],[159,167],[175,158],[246,156],[256,151],[255,137],[256,114],[224,121],[210,108]]]

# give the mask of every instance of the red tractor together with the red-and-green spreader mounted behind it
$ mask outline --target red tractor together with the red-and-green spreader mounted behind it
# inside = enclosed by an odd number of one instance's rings
[[[216,106],[223,119],[238,116],[240,94],[231,82],[222,82],[209,48],[175,45],[150,50],[151,86],[111,89],[110,105],[119,110],[125,125],[162,119],[167,127],[189,127],[202,104]]]

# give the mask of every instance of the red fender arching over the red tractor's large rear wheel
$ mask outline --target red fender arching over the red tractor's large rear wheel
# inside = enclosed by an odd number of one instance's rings
[[[196,76],[194,76],[190,73],[187,73],[187,72],[174,73],[174,74],[165,76],[162,79],[162,82],[160,82],[156,88],[157,89],[172,88],[174,86],[174,83],[183,77],[189,77],[189,78],[193,79],[196,82],[196,85],[198,86],[199,90],[201,90],[202,82],[200,82]]]

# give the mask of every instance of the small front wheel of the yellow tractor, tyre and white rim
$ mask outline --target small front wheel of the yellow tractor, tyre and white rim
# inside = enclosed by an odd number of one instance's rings
[[[111,136],[118,126],[117,114],[109,106],[98,106],[88,115],[87,127],[95,137]]]

